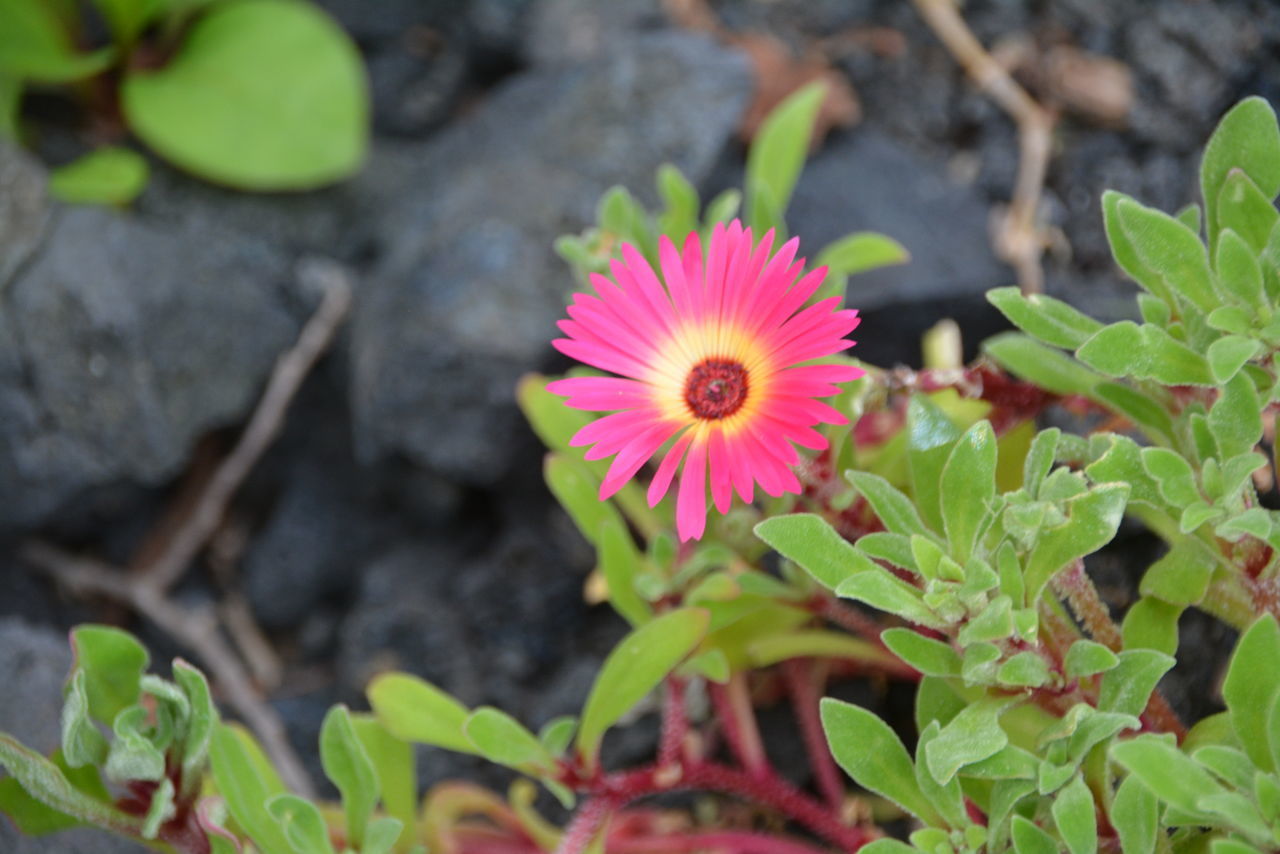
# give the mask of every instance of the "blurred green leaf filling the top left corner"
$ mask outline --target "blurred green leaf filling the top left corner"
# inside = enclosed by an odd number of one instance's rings
[[[104,47],[78,52],[47,0],[0,3],[0,76],[40,83],[68,83],[92,77],[115,59]]]

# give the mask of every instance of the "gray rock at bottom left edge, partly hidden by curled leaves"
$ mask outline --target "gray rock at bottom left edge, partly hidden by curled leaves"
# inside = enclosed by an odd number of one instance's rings
[[[0,731],[29,748],[49,753],[60,740],[63,682],[72,667],[67,638],[18,617],[0,618]],[[0,777],[5,776],[0,771]],[[23,836],[0,813],[0,851],[5,854],[141,854],[137,842],[99,830],[73,830],[51,836]]]

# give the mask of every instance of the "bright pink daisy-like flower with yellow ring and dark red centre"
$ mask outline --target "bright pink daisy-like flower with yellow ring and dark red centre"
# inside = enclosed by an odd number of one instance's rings
[[[755,484],[769,495],[799,493],[792,443],[820,451],[827,439],[815,424],[845,417],[817,398],[836,383],[863,375],[851,365],[804,365],[852,347],[855,310],[837,311],[838,298],[809,307],[827,274],[800,277],[799,241],[773,252],[771,230],[756,245],[737,220],[717,225],[707,254],[696,233],[684,252],[659,243],[660,278],[632,246],[611,266],[612,279],[591,275],[595,294],[576,293],[562,353],[618,376],[572,378],[548,388],[568,406],[613,412],[582,428],[575,446],[591,446],[588,460],[614,457],[600,498],[622,488],[667,443],[649,484],[649,504],[667,494],[681,469],[676,498],[680,539],[700,538],[707,526],[707,484],[719,512],[733,490],[750,502]]]

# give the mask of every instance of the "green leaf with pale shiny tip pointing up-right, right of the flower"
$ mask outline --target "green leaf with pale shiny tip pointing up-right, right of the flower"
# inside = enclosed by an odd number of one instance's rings
[[[1128,484],[1102,484],[1065,502],[1068,520],[1043,530],[1027,561],[1028,606],[1034,607],[1055,574],[1111,542],[1128,498]]]

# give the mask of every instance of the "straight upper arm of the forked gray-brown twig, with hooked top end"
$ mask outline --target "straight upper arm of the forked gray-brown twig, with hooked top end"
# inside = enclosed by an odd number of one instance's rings
[[[329,261],[305,261],[298,278],[321,292],[320,306],[307,320],[297,343],[283,353],[271,370],[266,389],[239,442],[219,463],[204,492],[192,504],[159,553],[137,571],[140,581],[156,592],[168,590],[182,577],[209,538],[218,530],[232,495],[280,433],[284,414],[302,380],[328,350],[351,307],[351,284],[342,269]]]

